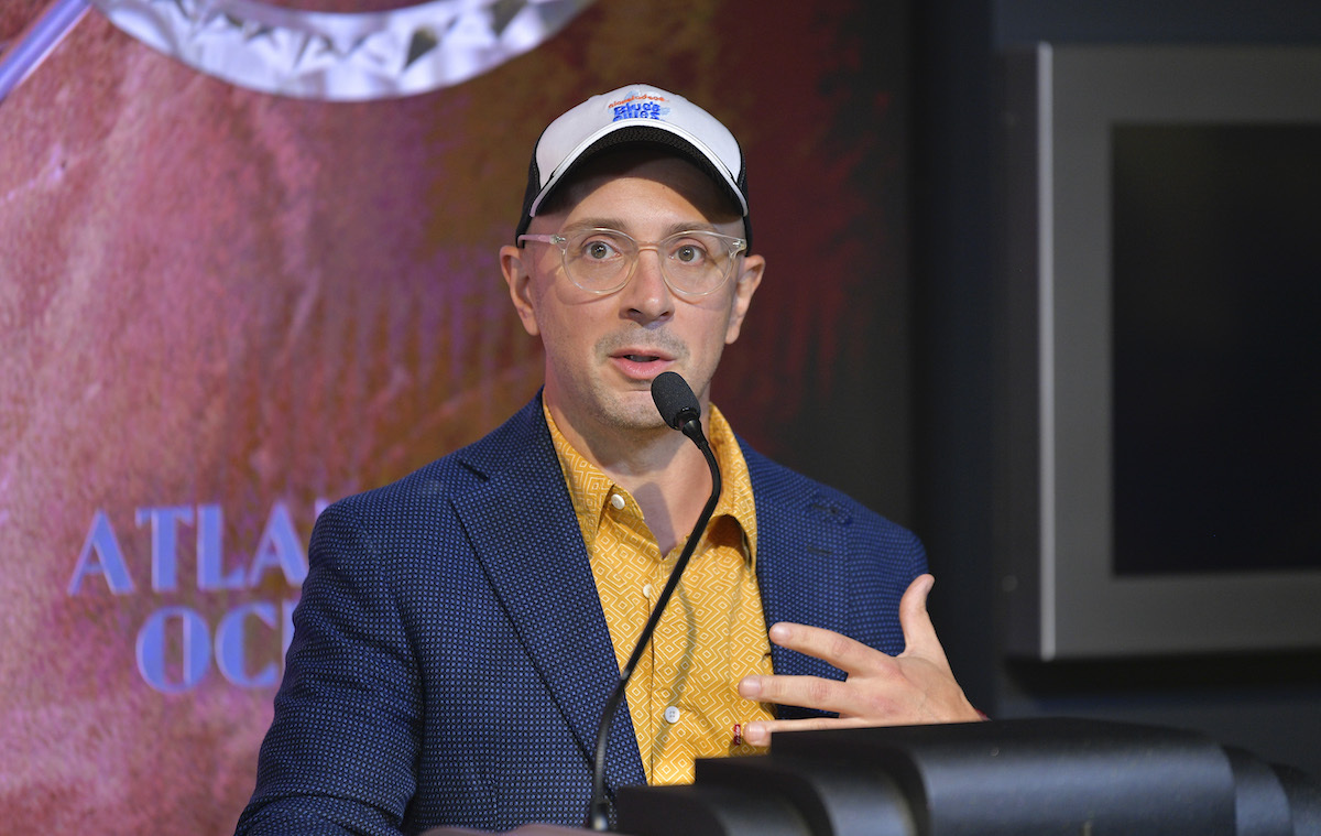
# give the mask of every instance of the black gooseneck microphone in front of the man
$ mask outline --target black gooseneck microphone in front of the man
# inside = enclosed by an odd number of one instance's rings
[[[707,443],[707,437],[701,433],[701,406],[697,403],[697,396],[692,394],[692,389],[687,381],[678,374],[674,372],[662,372],[651,380],[651,399],[655,401],[657,411],[660,413],[664,422],[691,438],[692,443],[701,451],[701,455],[707,458],[707,467],[711,468],[711,499],[707,500],[707,505],[701,509],[697,524],[692,526],[688,542],[684,544],[683,552],[679,553],[679,560],[670,571],[670,579],[666,581],[664,589],[660,591],[660,598],[657,599],[657,606],[651,610],[651,616],[647,618],[647,623],[642,628],[637,644],[633,646],[629,661],[620,669],[620,681],[614,684],[614,690],[610,692],[609,698],[605,701],[605,710],[601,712],[601,725],[596,730],[596,761],[592,763],[592,806],[588,811],[588,827],[602,832],[610,827],[610,803],[605,798],[605,750],[610,742],[610,722],[620,708],[620,701],[624,700],[624,688],[629,684],[633,669],[638,667],[642,652],[651,642],[651,634],[657,631],[660,615],[670,603],[670,597],[674,595],[675,587],[679,586],[679,577],[688,565],[688,558],[692,557],[694,549],[697,548],[697,541],[701,540],[701,534],[707,530],[707,524],[711,522],[711,515],[716,511],[716,501],[720,500],[720,466],[716,464],[716,456],[711,452],[711,444]]]

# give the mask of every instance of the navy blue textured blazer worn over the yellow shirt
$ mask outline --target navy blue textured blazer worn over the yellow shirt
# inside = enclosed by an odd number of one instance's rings
[[[918,540],[742,447],[766,623],[901,652],[898,602],[926,570]],[[309,562],[238,833],[583,824],[618,669],[540,397],[480,442],[328,508]],[[778,647],[771,660],[843,677]],[[606,782],[645,782],[624,706]]]

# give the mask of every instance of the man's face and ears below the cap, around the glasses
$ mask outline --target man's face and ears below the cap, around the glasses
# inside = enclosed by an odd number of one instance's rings
[[[690,229],[744,234],[711,179],[678,157],[610,155],[564,188],[561,208],[534,218],[530,233],[604,226],[639,242]],[[523,327],[546,348],[547,405],[575,435],[664,431],[650,388],[666,370],[682,374],[705,405],[765,266],[760,255],[741,257],[724,286],[694,298],[666,286],[650,249],[638,254],[629,283],[605,295],[575,286],[556,246],[505,247],[501,263]]]

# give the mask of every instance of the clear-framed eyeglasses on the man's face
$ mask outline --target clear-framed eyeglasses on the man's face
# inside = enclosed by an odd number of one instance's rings
[[[559,247],[564,275],[590,294],[613,294],[633,278],[642,250],[660,257],[660,275],[676,294],[705,296],[729,279],[736,257],[748,242],[703,230],[675,233],[660,241],[639,242],[617,229],[587,229],[572,235],[519,235]]]

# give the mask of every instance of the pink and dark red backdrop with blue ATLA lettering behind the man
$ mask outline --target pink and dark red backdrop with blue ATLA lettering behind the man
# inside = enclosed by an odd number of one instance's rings
[[[0,41],[44,5],[5,0]],[[231,831],[318,503],[539,385],[495,251],[531,143],[589,94],[658,83],[741,138],[770,267],[715,399],[806,470],[834,444],[834,481],[904,516],[904,5],[682,8],[597,3],[468,82],[350,104],[92,11],[0,103],[0,829]]]

